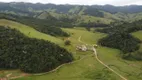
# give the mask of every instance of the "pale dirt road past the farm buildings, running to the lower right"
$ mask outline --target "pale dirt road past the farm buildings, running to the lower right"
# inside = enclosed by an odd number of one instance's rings
[[[80,36],[79,38],[78,38],[78,41],[79,42],[81,42],[81,43],[83,43],[83,44],[86,44],[86,43],[84,43],[83,41],[81,41],[81,37],[82,36]],[[92,45],[91,45],[92,46]],[[115,73],[116,75],[118,75],[120,78],[122,78],[123,80],[127,80],[124,76],[122,76],[121,74],[119,74],[118,72],[116,72],[115,70],[113,70],[112,68],[110,68],[108,65],[106,65],[104,62],[102,62],[99,58],[98,58],[98,55],[97,55],[97,51],[96,51],[96,49],[92,46],[92,50],[93,50],[93,54],[95,55],[95,58],[97,59],[97,61],[99,62],[99,63],[101,63],[103,66],[105,66],[106,68],[108,68],[110,71],[112,71],[113,73]]]

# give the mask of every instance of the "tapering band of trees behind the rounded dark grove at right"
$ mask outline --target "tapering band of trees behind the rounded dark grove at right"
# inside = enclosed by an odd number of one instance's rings
[[[126,32],[126,33],[132,33],[138,30],[142,30],[142,20],[138,20],[132,23],[126,23],[123,22],[120,25],[110,25],[111,27],[103,28],[103,29],[97,29],[96,31],[102,32],[102,33],[115,33],[115,32]]]

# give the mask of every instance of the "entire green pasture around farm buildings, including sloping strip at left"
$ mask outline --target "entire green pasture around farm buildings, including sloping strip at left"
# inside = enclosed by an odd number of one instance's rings
[[[45,39],[55,42],[61,46],[63,46],[62,37],[56,38],[43,33],[36,31],[33,28],[28,26],[8,21],[8,20],[0,20],[0,25],[10,26],[11,28],[16,28],[20,30],[25,35],[31,38]],[[62,28],[64,31],[71,34],[69,39],[71,40],[70,46],[63,46],[72,52],[75,63],[66,64],[59,68],[58,70],[35,76],[30,74],[30,76],[21,77],[16,80],[121,80],[119,76],[109,71],[102,64],[100,64],[95,56],[92,54],[92,51],[80,52],[76,51],[76,45],[81,44],[78,41],[78,38],[82,36],[81,40],[87,44],[96,44],[97,41],[106,36],[106,34],[102,33],[92,33],[88,32],[84,28]],[[28,33],[30,35],[28,35]],[[139,33],[140,34],[140,33]],[[141,80],[142,79],[142,62],[139,61],[127,61],[120,58],[120,51],[116,49],[106,48],[99,46],[97,48],[98,57],[105,64],[110,66],[112,69],[126,77],[128,80]],[[18,70],[1,70],[0,75],[7,75],[12,73],[13,76],[22,74],[22,72]],[[17,73],[16,73],[17,72]]]

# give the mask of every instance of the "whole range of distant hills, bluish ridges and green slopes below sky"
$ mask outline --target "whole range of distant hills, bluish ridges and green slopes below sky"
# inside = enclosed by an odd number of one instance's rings
[[[77,21],[74,23],[75,25],[89,22],[109,24],[114,21],[131,22],[142,19],[142,6],[87,6],[11,2],[0,3],[0,13],[30,16],[38,19],[72,19]]]

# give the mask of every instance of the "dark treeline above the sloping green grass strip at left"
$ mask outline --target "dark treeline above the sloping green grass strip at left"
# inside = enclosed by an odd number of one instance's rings
[[[57,19],[50,17],[48,19],[42,20],[28,16],[17,16],[12,14],[0,14],[1,19],[9,19],[22,24],[33,27],[34,29],[52,35],[52,36],[65,36],[68,37],[69,34],[62,31],[60,27],[70,27],[68,23],[60,22]]]

